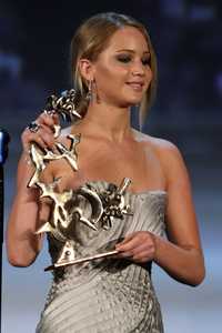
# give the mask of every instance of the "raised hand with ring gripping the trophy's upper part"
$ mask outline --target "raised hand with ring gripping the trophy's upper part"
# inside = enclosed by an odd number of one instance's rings
[[[39,130],[33,133],[27,128],[21,135],[24,152],[29,150],[31,142],[38,143],[42,149],[52,149],[54,144],[53,125],[59,123],[58,114],[42,112],[34,122],[40,125]]]

